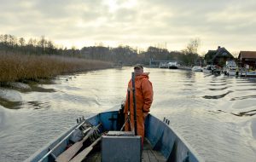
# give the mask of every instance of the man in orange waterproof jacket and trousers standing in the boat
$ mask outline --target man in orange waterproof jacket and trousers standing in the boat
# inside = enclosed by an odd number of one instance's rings
[[[143,72],[143,66],[137,64],[134,67],[135,74],[135,94],[136,94],[136,107],[137,107],[137,135],[142,136],[142,144],[144,139],[144,122],[150,111],[150,107],[153,101],[153,87],[151,82],[148,80],[148,73]],[[134,129],[134,111],[133,111],[133,91],[132,91],[132,80],[128,84],[126,101],[125,101],[125,121],[128,117],[128,94],[130,94],[130,115],[131,115],[131,124],[125,124],[125,131]]]

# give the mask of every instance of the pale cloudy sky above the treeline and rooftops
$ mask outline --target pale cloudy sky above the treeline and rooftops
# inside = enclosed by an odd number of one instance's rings
[[[70,48],[103,43],[200,53],[256,50],[255,0],[0,0],[0,34],[45,36]]]

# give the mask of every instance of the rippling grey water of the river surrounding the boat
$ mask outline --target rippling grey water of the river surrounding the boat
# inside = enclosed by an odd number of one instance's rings
[[[21,161],[75,124],[77,117],[119,106],[131,67],[55,78],[36,92],[0,90],[0,161]],[[148,69],[151,113],[170,119],[178,135],[206,161],[255,161],[256,79]],[[72,78],[69,78],[72,77]],[[3,102],[2,102],[3,103]]]

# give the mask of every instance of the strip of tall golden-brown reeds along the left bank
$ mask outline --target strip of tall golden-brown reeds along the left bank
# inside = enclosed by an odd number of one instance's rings
[[[110,62],[91,61],[57,55],[20,55],[0,53],[0,82],[52,78],[70,72],[111,67]]]

